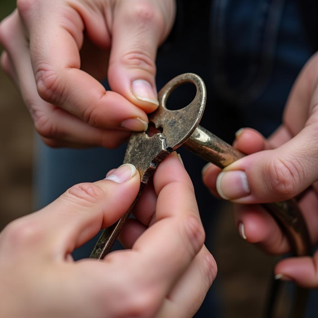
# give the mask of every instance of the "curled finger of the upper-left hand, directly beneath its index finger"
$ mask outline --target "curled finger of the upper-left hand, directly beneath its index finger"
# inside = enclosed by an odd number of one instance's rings
[[[30,80],[33,77],[31,58],[17,13],[8,23],[10,25],[6,29],[15,34],[6,46],[17,71],[17,85],[30,110],[35,128],[47,144],[53,147],[80,144],[106,148],[114,148],[121,144],[128,137],[128,132],[94,128],[38,96],[36,83]]]

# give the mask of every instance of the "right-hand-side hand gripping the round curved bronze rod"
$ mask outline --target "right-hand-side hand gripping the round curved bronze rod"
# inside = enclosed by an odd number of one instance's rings
[[[318,54],[304,66],[289,95],[283,124],[266,141],[252,129],[240,130],[234,146],[251,154],[222,173],[204,169],[204,183],[218,197],[250,205],[237,206],[236,224],[247,241],[267,252],[286,253],[289,245],[272,217],[255,203],[275,202],[302,194],[299,206],[312,244],[318,242]],[[275,148],[275,149],[272,149]],[[308,188],[309,187],[309,188]],[[275,267],[276,278],[318,287],[318,252],[314,257],[289,258]]]

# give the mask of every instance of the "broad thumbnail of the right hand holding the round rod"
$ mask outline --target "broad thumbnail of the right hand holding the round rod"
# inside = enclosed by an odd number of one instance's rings
[[[247,177],[244,171],[224,171],[218,175],[216,188],[220,197],[225,200],[238,199],[250,194]]]

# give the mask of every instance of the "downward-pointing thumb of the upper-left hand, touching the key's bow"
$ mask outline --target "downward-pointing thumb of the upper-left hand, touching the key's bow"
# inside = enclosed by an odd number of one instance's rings
[[[173,16],[172,4],[161,6],[145,0],[119,1],[114,8],[109,85],[147,113],[159,105],[156,53],[169,33]]]

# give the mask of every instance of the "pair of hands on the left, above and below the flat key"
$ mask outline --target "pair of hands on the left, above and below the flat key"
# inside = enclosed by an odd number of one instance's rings
[[[174,1],[18,0],[17,7],[0,25],[1,66],[46,144],[113,148],[147,129],[146,113],[158,106],[156,50],[172,27]],[[106,76],[112,91],[98,82]],[[73,262],[74,248],[119,219],[139,186],[135,168],[123,165],[8,225],[0,234],[1,314],[192,317],[217,267],[176,154],[158,167],[123,228],[128,249]]]

